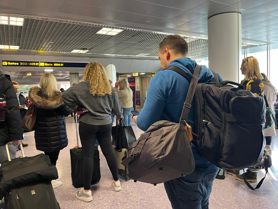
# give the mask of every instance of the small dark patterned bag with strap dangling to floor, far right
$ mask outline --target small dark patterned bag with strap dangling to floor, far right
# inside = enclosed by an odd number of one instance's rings
[[[250,168],[252,169],[264,169],[266,170],[266,174],[268,173],[268,168],[272,166],[272,161],[271,161],[271,156],[269,155],[268,151],[264,149],[264,155],[261,159],[261,163],[252,166]],[[243,170],[244,172],[244,170]],[[245,182],[245,184],[251,189],[251,190],[255,190],[255,189],[259,189],[261,187],[261,184],[263,183],[264,179],[266,178],[266,174],[264,176],[264,178],[261,179],[261,181],[257,184],[257,186],[255,188],[253,188],[250,183],[248,181],[246,181],[245,176],[243,175],[243,180]]]

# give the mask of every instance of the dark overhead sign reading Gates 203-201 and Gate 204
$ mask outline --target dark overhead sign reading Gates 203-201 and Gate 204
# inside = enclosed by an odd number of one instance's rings
[[[43,62],[2,60],[2,66],[6,67],[54,67],[54,68],[85,68],[87,62]]]

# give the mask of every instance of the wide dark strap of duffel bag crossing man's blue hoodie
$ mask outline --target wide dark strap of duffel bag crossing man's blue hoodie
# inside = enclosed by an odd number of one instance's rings
[[[188,92],[187,92],[187,96],[186,96],[186,99],[185,99],[185,102],[184,102],[184,105],[183,105],[183,108],[182,108],[182,115],[180,116],[181,121],[183,121],[183,120],[186,121],[187,120],[187,117],[188,117],[188,114],[189,114],[189,111],[190,111],[190,108],[191,108],[191,103],[192,103],[192,100],[193,100],[193,97],[194,97],[195,88],[196,88],[196,85],[197,85],[198,80],[199,80],[200,67],[201,66],[197,64],[195,69],[194,69],[193,77],[192,77],[192,80],[190,82],[189,89],[188,89]]]

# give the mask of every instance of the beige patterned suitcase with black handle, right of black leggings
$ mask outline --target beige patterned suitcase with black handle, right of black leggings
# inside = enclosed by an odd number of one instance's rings
[[[121,130],[122,120],[120,120],[120,125],[118,124],[118,120],[116,120],[116,126],[120,126]],[[122,147],[122,131],[119,131],[118,128],[116,129],[116,145],[113,145],[112,147],[118,162],[119,176],[127,181],[129,179],[127,176],[127,166],[122,165],[122,158],[127,154],[127,149]]]

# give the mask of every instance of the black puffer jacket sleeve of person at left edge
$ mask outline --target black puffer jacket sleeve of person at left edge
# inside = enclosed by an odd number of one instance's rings
[[[9,112],[6,112],[5,123],[9,129],[10,141],[21,140],[22,130],[21,130],[21,115],[18,105],[17,95],[12,86],[12,82],[7,78],[2,80],[4,82],[4,94],[6,95],[6,107]]]

